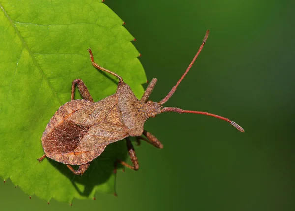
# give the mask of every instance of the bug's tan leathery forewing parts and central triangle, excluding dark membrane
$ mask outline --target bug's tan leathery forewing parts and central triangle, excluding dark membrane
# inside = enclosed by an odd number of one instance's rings
[[[68,116],[65,121],[89,127],[74,152],[97,149],[128,136],[122,123],[117,95],[83,107]]]

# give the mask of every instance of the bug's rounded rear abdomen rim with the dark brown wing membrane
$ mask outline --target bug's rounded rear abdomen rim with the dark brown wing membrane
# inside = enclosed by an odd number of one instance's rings
[[[64,118],[85,106],[92,105],[86,100],[65,103],[50,119],[42,135],[42,146],[48,158],[70,165],[81,165],[99,156],[106,146],[87,152],[74,152],[88,127],[64,122]]]

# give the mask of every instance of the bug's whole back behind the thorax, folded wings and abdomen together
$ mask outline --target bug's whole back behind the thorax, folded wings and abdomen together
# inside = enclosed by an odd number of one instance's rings
[[[109,143],[127,137],[124,131],[116,95],[96,103],[73,100],[51,118],[42,145],[47,157],[81,165],[99,156]]]

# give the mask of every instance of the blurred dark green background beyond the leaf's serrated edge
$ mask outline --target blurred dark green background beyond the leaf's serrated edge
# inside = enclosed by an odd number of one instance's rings
[[[0,183],[4,210],[295,210],[295,3],[262,0],[106,0],[136,37],[151,95],[161,100],[209,39],[191,72],[165,106],[212,117],[164,113],[145,128],[163,144],[135,147],[140,170],[118,172],[118,197],[73,206],[29,200]],[[146,86],[146,85],[145,85]]]

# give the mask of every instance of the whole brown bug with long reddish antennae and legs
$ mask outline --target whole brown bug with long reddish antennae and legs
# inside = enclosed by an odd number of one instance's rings
[[[244,132],[243,128],[235,122],[215,114],[182,110],[175,107],[163,107],[163,104],[173,95],[177,86],[193,65],[203,49],[208,36],[209,30],[206,32],[198,52],[185,73],[168,95],[158,103],[148,101],[149,95],[156,85],[156,78],[151,80],[142,98],[138,100],[130,87],[124,83],[121,76],[94,62],[93,54],[91,49],[89,49],[92,65],[119,79],[117,91],[105,99],[94,102],[82,80],[74,80],[72,83],[71,101],[60,106],[43,132],[42,146],[45,154],[38,160],[42,161],[45,157],[51,158],[66,164],[74,174],[82,175],[89,167],[91,161],[98,157],[108,144],[126,139],[133,166],[128,165],[124,161],[117,160],[117,162],[137,170],[139,165],[129,136],[135,136],[138,141],[142,139],[155,147],[163,148],[163,145],[155,136],[144,130],[144,123],[149,117],[155,117],[163,112],[205,114],[225,120],[239,131]],[[74,99],[76,86],[83,100]],[[147,139],[141,137],[141,135],[144,135]],[[78,170],[74,170],[71,165],[79,165]]]

